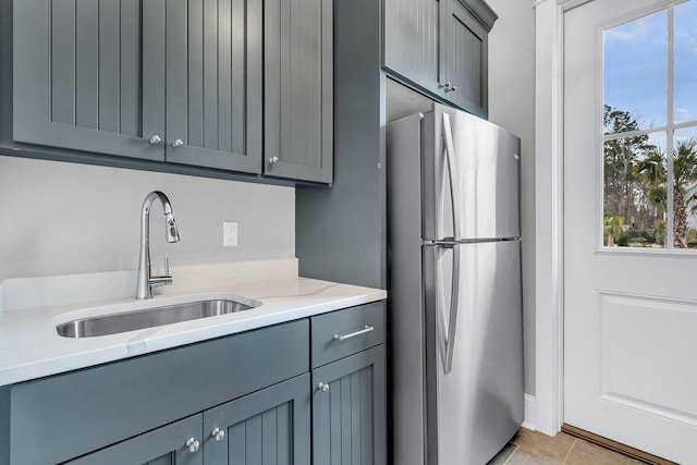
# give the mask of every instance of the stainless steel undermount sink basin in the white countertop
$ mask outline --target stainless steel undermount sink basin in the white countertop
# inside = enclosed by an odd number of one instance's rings
[[[256,305],[255,305],[256,304]],[[252,305],[231,299],[212,299],[168,305],[144,310],[124,311],[98,317],[81,318],[56,327],[63,338],[94,338],[117,334],[136,329],[152,328],[180,321],[197,320],[218,315],[249,310],[261,305],[252,301]]]

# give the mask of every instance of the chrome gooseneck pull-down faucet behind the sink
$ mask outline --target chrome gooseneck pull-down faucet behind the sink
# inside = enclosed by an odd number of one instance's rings
[[[164,276],[150,276],[150,208],[156,198],[160,199],[164,210],[167,242],[179,242],[179,231],[172,215],[170,199],[159,191],[149,193],[145,197],[143,209],[140,210],[140,259],[138,260],[138,285],[135,291],[135,298],[151,298],[154,286],[172,283],[170,265],[167,258],[164,259]]]

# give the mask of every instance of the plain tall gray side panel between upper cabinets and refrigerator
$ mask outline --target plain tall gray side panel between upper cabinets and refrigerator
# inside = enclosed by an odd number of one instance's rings
[[[334,179],[295,193],[304,277],[384,287],[379,44],[380,2],[335,2]]]

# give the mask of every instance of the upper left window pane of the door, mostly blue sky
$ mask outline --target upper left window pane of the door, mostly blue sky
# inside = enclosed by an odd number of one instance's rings
[[[603,103],[629,112],[635,126],[606,124],[606,134],[667,124],[668,11],[603,33]]]

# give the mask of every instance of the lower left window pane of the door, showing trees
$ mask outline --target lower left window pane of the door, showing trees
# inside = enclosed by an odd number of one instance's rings
[[[603,245],[664,247],[665,133],[604,142]]]

